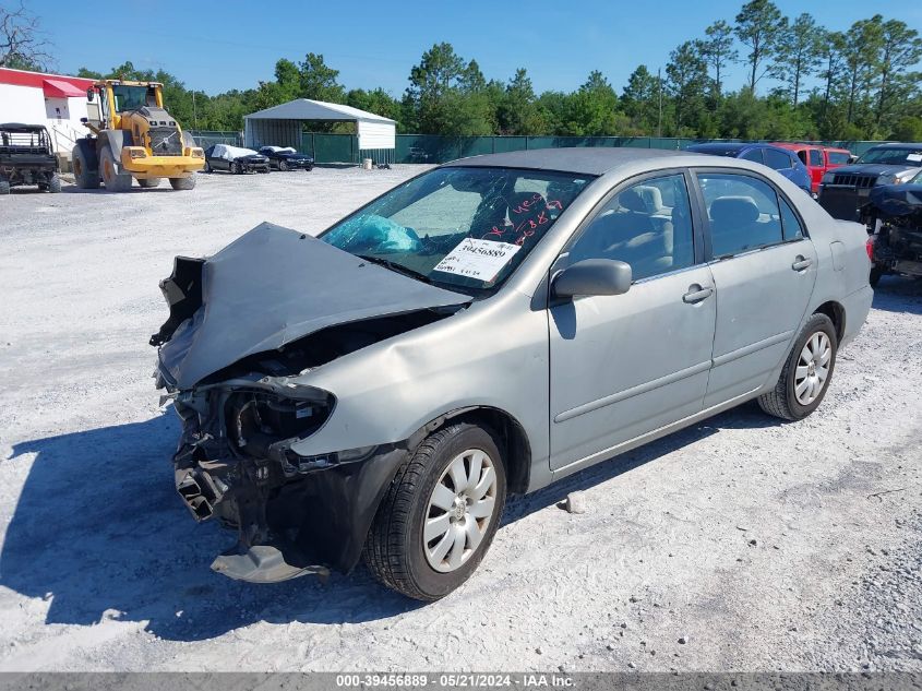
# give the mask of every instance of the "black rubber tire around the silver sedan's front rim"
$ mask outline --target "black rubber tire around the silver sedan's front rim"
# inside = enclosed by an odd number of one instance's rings
[[[479,545],[453,571],[433,569],[423,551],[429,500],[452,461],[467,450],[483,451],[495,472],[489,523]],[[452,425],[427,438],[397,470],[378,508],[364,545],[364,561],[387,587],[414,599],[432,601],[464,583],[490,548],[500,524],[506,492],[505,465],[495,433],[468,424]],[[471,520],[465,515],[465,521]],[[466,549],[466,544],[465,544]]]

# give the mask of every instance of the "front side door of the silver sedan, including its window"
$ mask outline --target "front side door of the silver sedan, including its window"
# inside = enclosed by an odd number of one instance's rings
[[[633,284],[551,302],[552,469],[601,461],[702,409],[716,306],[695,229],[687,174],[658,174],[614,190],[558,260],[554,272],[624,261]]]

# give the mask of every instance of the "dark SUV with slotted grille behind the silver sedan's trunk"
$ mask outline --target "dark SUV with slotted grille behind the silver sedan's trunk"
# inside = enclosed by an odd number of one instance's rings
[[[861,209],[878,184],[901,184],[922,168],[922,143],[878,144],[857,162],[823,176],[819,204],[834,218],[858,221]]]

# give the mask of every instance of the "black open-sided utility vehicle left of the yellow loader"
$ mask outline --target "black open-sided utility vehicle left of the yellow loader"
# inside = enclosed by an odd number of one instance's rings
[[[58,158],[48,130],[41,124],[0,124],[0,194],[20,184],[60,192]]]

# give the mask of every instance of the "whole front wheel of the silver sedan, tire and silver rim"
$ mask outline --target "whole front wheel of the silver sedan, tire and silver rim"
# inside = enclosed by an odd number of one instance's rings
[[[493,541],[506,493],[495,433],[452,425],[400,466],[381,502],[364,560],[408,597],[435,600],[464,583]]]

